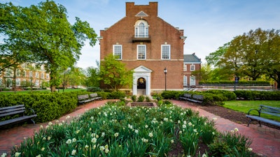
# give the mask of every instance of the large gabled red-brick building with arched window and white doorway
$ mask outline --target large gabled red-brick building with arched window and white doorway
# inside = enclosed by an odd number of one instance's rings
[[[126,3],[126,16],[100,31],[100,61],[113,53],[134,70],[133,95],[183,89],[183,30],[158,17],[158,2]],[[166,82],[164,69],[167,69]]]

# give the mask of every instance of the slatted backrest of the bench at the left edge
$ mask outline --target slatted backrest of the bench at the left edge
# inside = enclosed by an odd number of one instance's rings
[[[8,115],[25,113],[25,105],[15,105],[8,107],[0,107],[0,117],[5,117]]]

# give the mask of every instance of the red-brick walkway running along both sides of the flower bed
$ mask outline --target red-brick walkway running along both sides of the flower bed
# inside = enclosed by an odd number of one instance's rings
[[[66,114],[64,117],[61,117],[59,121],[65,120],[67,116],[77,117],[83,112],[93,108],[104,105],[108,100],[97,100],[92,103],[87,103],[85,105],[78,106],[78,110],[72,112],[71,114]],[[172,100],[172,102],[181,107],[189,107],[195,111],[200,112],[201,116],[209,117],[209,119],[217,118],[216,128],[220,132],[234,130],[235,128],[239,129],[239,133],[246,135],[253,143],[251,148],[257,154],[262,154],[262,156],[267,157],[279,157],[280,156],[280,130],[268,128],[268,127],[258,127],[258,125],[250,125],[247,127],[245,124],[235,124],[228,119],[223,119],[214,114],[206,112],[200,107],[197,107],[193,103],[186,101]],[[6,130],[0,130],[0,155],[3,153],[10,154],[10,149],[13,149],[14,146],[19,145],[20,142],[24,140],[25,137],[31,137],[34,135],[35,130],[39,130],[40,126],[46,126],[48,123],[44,124],[29,124],[26,126],[19,126],[15,128],[10,128]]]

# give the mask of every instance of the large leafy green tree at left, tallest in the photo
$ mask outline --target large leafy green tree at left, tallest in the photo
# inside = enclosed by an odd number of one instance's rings
[[[76,17],[71,25],[66,8],[54,1],[45,1],[38,6],[15,7],[12,3],[1,5],[0,30],[5,33],[6,43],[23,45],[30,61],[45,65],[50,73],[50,87],[60,84],[59,73],[74,65],[85,45],[93,46],[97,34],[90,24]]]

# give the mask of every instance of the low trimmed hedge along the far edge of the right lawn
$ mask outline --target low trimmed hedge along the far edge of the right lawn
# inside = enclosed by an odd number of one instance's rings
[[[280,100],[280,91],[235,91],[237,98],[242,100]]]

